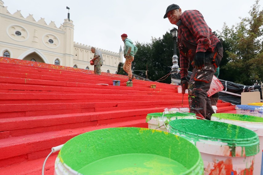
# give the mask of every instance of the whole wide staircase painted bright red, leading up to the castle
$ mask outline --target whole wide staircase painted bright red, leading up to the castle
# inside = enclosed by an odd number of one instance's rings
[[[109,127],[147,128],[148,113],[182,107],[182,94],[171,84],[135,79],[126,87],[125,75],[3,57],[0,66],[0,174],[40,174],[51,148],[74,136]],[[235,110],[219,100],[218,112]],[[54,173],[56,155],[45,174]]]

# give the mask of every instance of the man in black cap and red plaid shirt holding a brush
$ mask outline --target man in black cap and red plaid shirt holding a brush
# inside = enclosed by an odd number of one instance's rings
[[[190,112],[210,120],[215,112],[207,91],[223,57],[222,44],[198,10],[182,12],[178,5],[172,4],[167,7],[164,18],[178,26],[181,85],[182,91],[188,88]],[[186,76],[190,63],[193,65],[193,73],[188,83]]]

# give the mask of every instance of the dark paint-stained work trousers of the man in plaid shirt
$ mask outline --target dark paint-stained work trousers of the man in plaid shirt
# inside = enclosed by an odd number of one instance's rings
[[[194,67],[188,84],[188,100],[190,112],[201,118],[211,119],[214,112],[207,91],[210,88],[215,67],[223,57],[223,47],[218,43],[213,53],[205,53],[205,66],[200,70]]]

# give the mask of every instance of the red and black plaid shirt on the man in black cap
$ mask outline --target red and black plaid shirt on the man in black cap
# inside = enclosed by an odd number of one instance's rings
[[[190,61],[196,52],[213,52],[219,39],[212,33],[205,22],[203,15],[198,10],[186,10],[181,15],[181,20],[176,24],[178,26],[178,47],[180,50],[181,78],[188,75]],[[187,42],[183,42],[183,38]],[[188,50],[189,43],[195,45],[195,49],[190,50],[193,53],[185,53],[180,48],[182,45]],[[180,46],[181,45],[181,46]],[[191,45],[191,47],[193,47]],[[190,55],[190,56],[189,56]]]

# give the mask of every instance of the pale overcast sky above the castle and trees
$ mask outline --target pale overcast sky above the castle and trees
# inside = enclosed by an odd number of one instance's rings
[[[33,14],[38,21],[45,18],[47,24],[54,21],[57,27],[67,18],[74,24],[74,41],[113,52],[119,52],[123,42],[120,35],[126,33],[133,42],[149,43],[151,37],[162,38],[174,25],[164,19],[167,6],[175,3],[182,11],[199,10],[212,31],[222,31],[248,17],[254,0],[2,0],[7,10],[14,14],[21,10],[26,18]],[[260,9],[263,0],[260,1]]]

